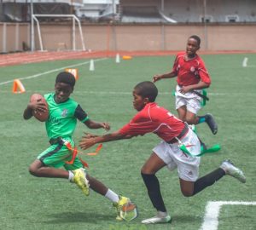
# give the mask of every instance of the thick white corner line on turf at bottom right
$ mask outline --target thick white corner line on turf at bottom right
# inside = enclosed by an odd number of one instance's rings
[[[200,230],[218,230],[218,214],[223,205],[256,205],[256,202],[209,201]]]

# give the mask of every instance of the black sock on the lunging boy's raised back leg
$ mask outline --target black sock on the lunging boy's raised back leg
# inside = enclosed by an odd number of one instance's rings
[[[212,186],[216,181],[218,181],[224,175],[225,175],[225,171],[221,168],[218,168],[217,170],[214,170],[211,173],[202,176],[194,183],[193,195],[201,192],[201,190],[205,189],[208,186]]]

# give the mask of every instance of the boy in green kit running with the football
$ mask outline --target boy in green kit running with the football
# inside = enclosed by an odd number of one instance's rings
[[[89,195],[90,188],[100,193],[113,202],[117,209],[117,219],[125,219],[124,207],[131,204],[129,198],[117,195],[101,181],[96,180],[84,170],[84,165],[78,157],[73,158],[75,144],[72,138],[76,128],[77,119],[89,129],[109,130],[108,123],[99,123],[91,120],[78,102],[69,96],[73,93],[75,78],[70,72],[60,72],[55,79],[55,93],[44,95],[49,106],[49,118],[45,122],[45,128],[49,137],[50,147],[38,155],[38,158],[30,165],[29,172],[38,177],[65,178],[76,183],[85,195]],[[42,101],[29,102],[23,113],[24,119],[32,118],[32,111],[44,112]],[[67,145],[68,143],[68,145]],[[71,150],[72,149],[72,150]],[[72,162],[72,164],[70,164]],[[65,170],[60,169],[64,167]],[[136,206],[135,208],[137,217]]]

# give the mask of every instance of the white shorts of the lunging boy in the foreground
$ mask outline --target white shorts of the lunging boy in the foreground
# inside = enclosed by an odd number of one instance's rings
[[[191,129],[189,129],[189,132],[181,141],[189,152],[195,155],[201,152],[200,141]],[[179,149],[178,143],[168,144],[166,141],[161,141],[158,146],[154,147],[153,151],[166,163],[169,170],[177,168],[179,178],[184,181],[197,180],[199,176],[200,157],[191,157]]]

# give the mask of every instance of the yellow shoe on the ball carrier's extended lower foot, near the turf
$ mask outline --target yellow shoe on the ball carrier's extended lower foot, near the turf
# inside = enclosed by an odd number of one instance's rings
[[[113,203],[113,207],[117,211],[117,221],[131,221],[138,216],[137,206],[131,203],[130,198],[119,196],[119,202]]]

